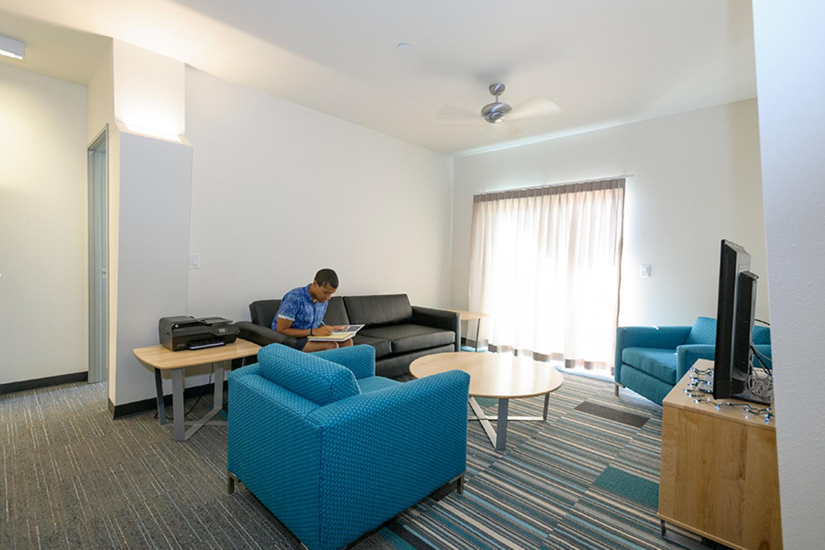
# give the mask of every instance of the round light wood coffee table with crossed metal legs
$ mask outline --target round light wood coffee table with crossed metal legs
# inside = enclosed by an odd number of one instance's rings
[[[497,450],[507,444],[507,421],[546,421],[550,393],[564,382],[562,374],[549,364],[529,357],[516,357],[497,353],[473,353],[451,351],[425,355],[410,364],[410,373],[416,378],[448,370],[463,370],[469,374],[469,404],[475,417],[481,422],[490,442]],[[542,416],[508,416],[510,400],[519,397],[544,396]],[[498,415],[487,416],[475,397],[492,397],[498,400]],[[490,421],[497,421],[496,430]]]

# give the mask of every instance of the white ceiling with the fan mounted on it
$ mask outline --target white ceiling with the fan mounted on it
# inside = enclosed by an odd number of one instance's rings
[[[485,123],[434,118],[448,103],[480,109],[497,81],[511,105],[541,95],[562,109],[518,121],[518,142],[756,96],[748,0],[0,0],[0,9],[112,36],[446,154],[505,142]],[[4,19],[0,33],[14,36]]]

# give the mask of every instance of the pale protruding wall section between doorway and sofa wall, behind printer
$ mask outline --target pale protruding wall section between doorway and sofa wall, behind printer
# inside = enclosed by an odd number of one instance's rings
[[[154,397],[132,350],[158,343],[160,317],[186,312],[191,158],[187,144],[120,131],[115,405]]]

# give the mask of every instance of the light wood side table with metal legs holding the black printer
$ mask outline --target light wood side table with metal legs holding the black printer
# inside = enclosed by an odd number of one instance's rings
[[[163,404],[162,370],[172,371],[172,423],[176,441],[186,441],[205,425],[225,425],[224,421],[212,421],[224,406],[224,370],[229,370],[231,361],[249,355],[256,355],[261,346],[238,338],[231,344],[205,350],[172,351],[163,346],[137,348],[134,356],[154,370],[155,391],[158,394],[158,421],[166,424],[166,407]],[[199,421],[187,422],[183,418],[183,376],[186,367],[198,364],[214,364],[214,399],[212,410]],[[186,430],[186,424],[192,425]]]

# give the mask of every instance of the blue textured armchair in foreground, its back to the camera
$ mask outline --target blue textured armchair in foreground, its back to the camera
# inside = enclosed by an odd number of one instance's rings
[[[457,480],[469,374],[398,383],[375,348],[280,344],[229,374],[228,490],[239,480],[309,550],[332,550]]]

